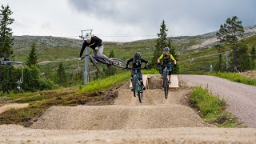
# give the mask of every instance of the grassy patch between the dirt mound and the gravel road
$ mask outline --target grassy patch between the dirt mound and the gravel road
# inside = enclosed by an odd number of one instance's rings
[[[200,111],[201,117],[221,127],[236,127],[238,123],[230,112],[225,111],[226,102],[218,96],[212,96],[209,90],[195,87],[190,97],[190,104]]]

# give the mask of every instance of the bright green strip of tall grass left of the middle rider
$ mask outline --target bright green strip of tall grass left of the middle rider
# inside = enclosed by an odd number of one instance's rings
[[[118,86],[122,82],[127,81],[130,78],[130,72],[125,72],[122,74],[116,74],[114,76],[110,76],[103,79],[97,79],[94,81],[90,81],[86,86],[84,86],[81,90],[82,93],[92,93],[97,92],[99,90],[107,90],[110,87]]]

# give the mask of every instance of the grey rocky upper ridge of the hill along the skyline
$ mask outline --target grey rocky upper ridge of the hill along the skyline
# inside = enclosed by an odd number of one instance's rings
[[[256,26],[247,26],[245,27],[244,38],[256,35]],[[196,35],[196,36],[179,36],[179,37],[170,37],[172,42],[177,43],[179,53],[182,51],[193,51],[206,47],[211,47],[216,45],[217,31],[210,32],[207,34]],[[14,36],[14,50],[29,50],[32,42],[36,42],[38,46],[52,46],[52,47],[81,47],[82,39],[74,38],[62,38],[62,37],[52,37],[52,36]],[[146,39],[139,40],[136,42],[143,41],[155,41],[155,39]],[[120,43],[130,43],[130,42],[105,42],[105,43],[115,43],[119,45]]]

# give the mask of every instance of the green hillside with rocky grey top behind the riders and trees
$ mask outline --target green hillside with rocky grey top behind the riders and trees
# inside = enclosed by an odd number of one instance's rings
[[[217,44],[216,32],[197,36],[170,37],[176,52],[179,55],[178,63],[181,64],[181,72],[205,71],[210,69],[210,63],[214,63],[217,58],[217,51],[212,46]],[[249,46],[255,45],[256,26],[245,28],[243,42]],[[32,42],[37,42],[38,62],[42,69],[46,67],[56,68],[58,62],[64,61],[65,65],[74,70],[78,67],[78,58],[82,46],[82,40],[72,38],[60,38],[51,36],[14,36],[15,60],[26,62],[26,57]],[[118,58],[127,60],[132,58],[134,52],[142,53],[142,58],[151,61],[154,51],[155,39],[146,39],[134,42],[104,42],[104,54],[109,55],[110,50]],[[118,55],[118,56],[117,56]],[[206,57],[209,55],[210,57]],[[205,57],[205,58],[204,58]],[[191,59],[196,59],[193,64],[188,63]],[[195,65],[196,63],[196,65]],[[184,64],[184,65],[183,65]],[[195,65],[195,66],[194,66]],[[191,69],[191,66],[193,67]],[[197,67],[199,66],[199,67]],[[189,68],[189,70],[187,69]]]

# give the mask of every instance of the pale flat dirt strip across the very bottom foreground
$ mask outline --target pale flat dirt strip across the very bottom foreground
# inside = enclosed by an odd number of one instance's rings
[[[256,129],[42,130],[0,126],[0,143],[255,143]]]

